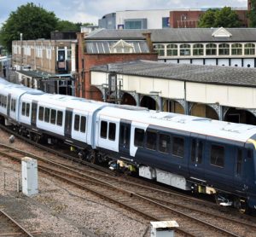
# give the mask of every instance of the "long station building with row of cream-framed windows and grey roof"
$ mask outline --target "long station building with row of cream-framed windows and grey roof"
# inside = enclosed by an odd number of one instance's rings
[[[154,30],[107,30],[87,39],[134,40],[150,34],[158,61],[217,66],[256,66],[255,28],[179,28]]]

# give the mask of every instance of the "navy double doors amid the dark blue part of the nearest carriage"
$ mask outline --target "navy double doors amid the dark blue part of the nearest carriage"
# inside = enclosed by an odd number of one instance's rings
[[[195,182],[205,182],[205,136],[190,137],[189,174]]]

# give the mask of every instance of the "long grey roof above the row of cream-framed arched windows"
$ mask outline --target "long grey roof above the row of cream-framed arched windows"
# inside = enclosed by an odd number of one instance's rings
[[[230,37],[213,37],[212,33],[218,28],[168,28],[155,30],[107,30],[100,29],[92,32],[85,39],[107,40],[107,39],[145,39],[143,33],[151,33],[153,43],[161,42],[255,42],[256,28],[225,28],[230,32]]]

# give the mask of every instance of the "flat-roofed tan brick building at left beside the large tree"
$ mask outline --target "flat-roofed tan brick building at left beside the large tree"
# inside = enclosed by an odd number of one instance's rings
[[[77,41],[63,38],[63,34],[55,32],[51,39],[13,41],[15,80],[45,92],[74,95]]]

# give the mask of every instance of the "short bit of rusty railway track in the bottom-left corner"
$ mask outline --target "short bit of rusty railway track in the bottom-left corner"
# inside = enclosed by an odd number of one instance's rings
[[[17,223],[6,212],[0,210],[0,236],[32,237],[33,235],[23,228],[20,223]]]

